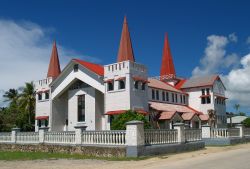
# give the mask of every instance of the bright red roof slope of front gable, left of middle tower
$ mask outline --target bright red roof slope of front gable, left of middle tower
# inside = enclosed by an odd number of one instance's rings
[[[78,62],[79,64],[91,70],[92,72],[96,73],[97,75],[104,76],[104,67],[102,65],[92,63],[92,62],[87,62],[87,61],[80,60],[80,59],[72,59],[72,60],[75,62]]]

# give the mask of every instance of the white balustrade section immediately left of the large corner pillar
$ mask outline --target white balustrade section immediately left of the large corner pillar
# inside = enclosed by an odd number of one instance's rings
[[[125,130],[84,131],[82,144],[125,145]]]

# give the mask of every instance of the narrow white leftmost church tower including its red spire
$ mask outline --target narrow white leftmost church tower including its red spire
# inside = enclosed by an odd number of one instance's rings
[[[55,80],[61,73],[60,62],[56,47],[56,42],[53,43],[50,63],[47,73],[47,78],[38,80],[35,83],[36,90],[36,126],[35,130],[38,131],[39,127],[50,126],[51,115],[51,90],[50,83]]]

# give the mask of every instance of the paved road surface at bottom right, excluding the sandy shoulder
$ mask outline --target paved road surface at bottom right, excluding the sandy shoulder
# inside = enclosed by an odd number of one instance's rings
[[[201,155],[179,161],[161,161],[151,169],[250,169],[250,148]]]

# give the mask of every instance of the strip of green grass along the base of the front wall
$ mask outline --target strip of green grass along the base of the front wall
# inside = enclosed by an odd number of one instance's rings
[[[45,152],[19,152],[19,151],[0,151],[0,160],[48,160],[48,159],[97,159],[108,161],[130,161],[144,160],[148,157],[127,158],[127,157],[94,157],[81,154],[66,153],[45,153]]]

